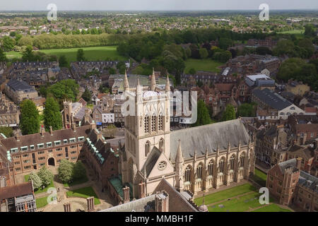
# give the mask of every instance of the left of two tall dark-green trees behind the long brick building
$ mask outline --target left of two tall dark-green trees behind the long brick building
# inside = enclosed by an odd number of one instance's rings
[[[20,129],[23,135],[38,133],[40,116],[32,100],[25,99],[20,104]]]

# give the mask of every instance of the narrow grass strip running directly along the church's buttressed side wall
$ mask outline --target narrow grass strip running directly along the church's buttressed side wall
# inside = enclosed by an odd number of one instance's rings
[[[230,189],[225,189],[223,191],[218,191],[216,193],[210,194],[208,196],[204,196],[204,204],[208,205],[211,203],[216,203],[218,201],[222,201],[226,198],[231,198],[234,196],[238,196],[241,194],[245,194],[249,191],[256,191],[257,189],[252,186],[252,184],[242,184],[240,186],[235,186]],[[202,197],[195,198],[194,203],[200,206],[202,204]]]

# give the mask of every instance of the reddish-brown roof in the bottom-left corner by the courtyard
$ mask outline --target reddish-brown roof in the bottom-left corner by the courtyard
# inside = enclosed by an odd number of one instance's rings
[[[0,200],[6,198],[13,198],[17,196],[25,196],[33,194],[32,182],[25,182],[23,184],[15,184],[12,186],[5,186],[0,188]]]

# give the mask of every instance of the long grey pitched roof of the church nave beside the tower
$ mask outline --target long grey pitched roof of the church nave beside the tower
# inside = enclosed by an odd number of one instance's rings
[[[231,147],[237,147],[239,141],[241,145],[249,143],[249,134],[241,119],[222,121],[204,126],[196,126],[189,129],[180,129],[170,133],[170,160],[175,162],[177,148],[181,141],[181,148],[184,159],[196,155],[204,155],[206,148],[208,153],[216,152],[218,145],[220,150]]]

